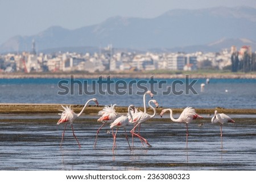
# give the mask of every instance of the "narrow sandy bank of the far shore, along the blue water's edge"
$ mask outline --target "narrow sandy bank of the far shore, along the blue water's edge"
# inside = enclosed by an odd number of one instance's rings
[[[70,78],[74,75],[74,78],[98,78],[102,75],[103,78],[150,78],[154,75],[154,78],[174,79],[185,78],[185,74],[189,75],[189,78],[232,78],[232,79],[256,79],[256,73],[184,73],[184,74],[168,74],[168,73],[0,73],[0,79],[18,79],[18,78]]]

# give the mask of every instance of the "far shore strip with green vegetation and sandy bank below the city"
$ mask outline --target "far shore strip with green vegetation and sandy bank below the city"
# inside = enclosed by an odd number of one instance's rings
[[[76,78],[98,78],[108,77],[112,78],[150,78],[154,75],[155,78],[184,78],[184,75],[190,75],[191,78],[253,78],[256,79],[256,72],[233,73],[229,70],[215,70],[215,69],[199,69],[196,71],[182,71],[182,70],[152,70],[152,71],[102,71],[95,73],[88,73],[86,71],[76,72],[55,72],[55,73],[0,73],[0,78],[69,78],[74,75]]]

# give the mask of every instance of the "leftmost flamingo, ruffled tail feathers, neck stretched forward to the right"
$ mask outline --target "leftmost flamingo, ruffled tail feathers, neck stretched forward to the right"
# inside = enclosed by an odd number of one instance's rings
[[[75,132],[74,132],[74,129],[73,129],[73,121],[79,117],[82,112],[84,112],[84,109],[85,107],[88,105],[88,103],[90,101],[94,101],[96,103],[96,105],[98,106],[98,101],[96,98],[93,98],[93,99],[90,99],[88,101],[86,101],[85,105],[84,105],[84,108],[82,108],[82,111],[79,113],[79,114],[76,114],[72,109],[71,109],[71,105],[66,106],[64,107],[63,105],[61,105],[61,107],[63,107],[64,111],[63,110],[59,110],[59,111],[62,111],[60,115],[60,120],[57,122],[57,125],[61,124],[61,123],[66,123],[65,126],[64,126],[64,130],[63,130],[63,133],[62,133],[62,138],[61,138],[61,143],[60,143],[60,147],[62,146],[62,143],[63,143],[63,139],[64,139],[64,134],[65,134],[65,129],[66,129],[66,126],[68,124],[68,122],[71,124],[71,128],[72,128],[72,132],[73,132],[73,136],[76,138],[76,135],[75,135]],[[81,148],[81,145],[78,141],[78,139],[76,138],[76,141],[79,145],[79,148]]]

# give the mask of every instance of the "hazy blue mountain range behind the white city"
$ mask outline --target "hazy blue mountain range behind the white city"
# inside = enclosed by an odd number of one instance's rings
[[[32,36],[14,36],[0,52],[30,51],[32,40],[40,52],[114,48],[151,51],[220,51],[236,45],[256,49],[256,9],[215,7],[170,10],[151,19],[115,16],[77,29],[49,27]]]

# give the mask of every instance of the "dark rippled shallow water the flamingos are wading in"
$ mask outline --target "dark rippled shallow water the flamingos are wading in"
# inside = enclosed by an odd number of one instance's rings
[[[95,121],[93,117],[82,117],[73,124],[81,149],[70,125],[60,149],[64,125],[56,125],[58,116],[4,117],[0,117],[0,170],[256,169],[255,117],[236,117],[235,124],[225,125],[222,143],[220,126],[213,125],[210,118],[193,122],[189,124],[187,146],[184,124],[156,116],[141,128],[141,135],[151,147],[142,146],[135,138],[130,151],[123,129],[119,129],[114,152],[108,126],[101,130],[97,147],[93,148],[96,130],[100,127],[96,117]],[[130,133],[129,141],[131,144]]]

